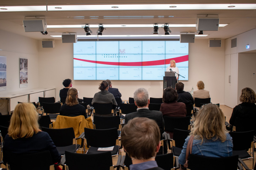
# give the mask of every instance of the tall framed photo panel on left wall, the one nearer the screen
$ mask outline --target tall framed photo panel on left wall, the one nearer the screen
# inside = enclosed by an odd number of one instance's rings
[[[20,88],[28,86],[28,59],[20,58]]]

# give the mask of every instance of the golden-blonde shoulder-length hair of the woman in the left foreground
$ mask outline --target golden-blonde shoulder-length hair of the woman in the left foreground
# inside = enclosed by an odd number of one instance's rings
[[[10,120],[8,135],[13,139],[29,138],[39,132],[38,114],[32,103],[19,103]]]

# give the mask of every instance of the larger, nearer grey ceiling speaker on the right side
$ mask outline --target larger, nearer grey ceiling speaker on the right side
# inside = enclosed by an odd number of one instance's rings
[[[196,29],[198,31],[218,31],[218,17],[197,17]]]

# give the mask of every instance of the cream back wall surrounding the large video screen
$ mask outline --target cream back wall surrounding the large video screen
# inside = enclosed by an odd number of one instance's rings
[[[63,88],[64,79],[73,79],[73,44],[55,40],[54,48],[42,48],[38,43],[39,52],[39,86],[55,87],[56,99]],[[210,91],[213,103],[224,103],[224,67],[225,47],[208,47],[208,40],[196,40],[189,44],[189,80],[182,81],[185,91],[197,90],[196,83],[202,80],[205,89]],[[73,87],[78,89],[79,97],[93,97],[98,92],[98,80],[73,80]],[[162,97],[162,81],[124,81],[113,80],[113,87],[122,93],[122,99],[133,97],[133,92],[144,87],[150,97]]]

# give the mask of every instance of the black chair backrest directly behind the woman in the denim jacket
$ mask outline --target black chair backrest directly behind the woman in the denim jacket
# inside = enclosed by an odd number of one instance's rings
[[[204,157],[190,154],[188,168],[190,170],[237,170],[238,155],[231,157]]]

